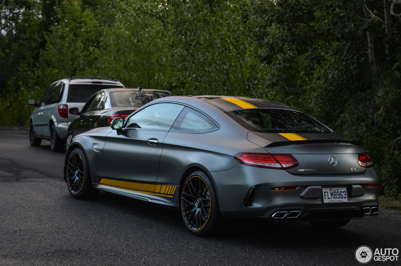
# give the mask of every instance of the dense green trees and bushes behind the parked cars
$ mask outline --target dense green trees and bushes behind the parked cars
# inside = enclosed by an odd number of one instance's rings
[[[401,1],[2,0],[0,124],[28,125],[46,87],[127,87],[283,102],[365,142],[401,200]]]

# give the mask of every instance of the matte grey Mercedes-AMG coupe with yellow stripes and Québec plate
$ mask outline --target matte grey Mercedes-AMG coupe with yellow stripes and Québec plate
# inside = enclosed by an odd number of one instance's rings
[[[196,235],[223,218],[337,228],[378,214],[379,178],[362,142],[285,104],[171,96],[75,136],[64,180],[180,210]]]

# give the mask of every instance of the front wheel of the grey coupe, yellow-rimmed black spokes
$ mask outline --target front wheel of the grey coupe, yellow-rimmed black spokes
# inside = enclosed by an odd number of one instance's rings
[[[92,188],[91,175],[85,154],[80,148],[75,148],[68,156],[67,187],[74,198],[92,198],[99,194],[99,190]]]

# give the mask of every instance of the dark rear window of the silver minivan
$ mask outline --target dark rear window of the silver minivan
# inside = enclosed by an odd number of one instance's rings
[[[102,84],[70,84],[68,88],[67,102],[87,102],[98,90],[109,88],[124,88],[122,85]]]

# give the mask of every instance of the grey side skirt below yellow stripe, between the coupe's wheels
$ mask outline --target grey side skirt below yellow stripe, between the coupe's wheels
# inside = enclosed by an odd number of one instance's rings
[[[162,197],[168,197],[171,198],[172,200],[172,195],[161,195],[157,193],[152,193],[152,192],[145,192],[145,191],[138,191],[138,190],[131,190],[127,188],[118,188],[115,186],[109,186],[105,184],[96,184],[92,183],[92,187],[96,188],[98,190],[103,190],[123,196],[128,196],[130,198],[136,198],[138,200],[144,200],[147,202],[152,202],[156,204],[162,204],[165,206],[171,206],[174,207],[174,204],[172,204],[169,200],[164,200]]]

